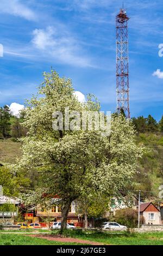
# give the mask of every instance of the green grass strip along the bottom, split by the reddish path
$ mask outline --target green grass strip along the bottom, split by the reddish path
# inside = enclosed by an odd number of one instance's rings
[[[54,231],[53,234],[58,234]],[[43,234],[42,234],[43,235]],[[91,233],[80,230],[68,230],[65,235],[80,240],[99,242],[103,245],[163,245],[163,232],[134,233]],[[48,241],[37,237],[29,237],[24,234],[0,234],[0,245],[77,245],[79,243],[61,243]]]

